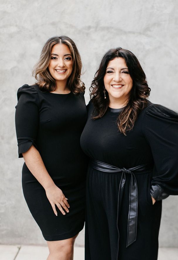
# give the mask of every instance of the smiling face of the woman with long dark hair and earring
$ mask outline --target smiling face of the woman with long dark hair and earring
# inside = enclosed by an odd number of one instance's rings
[[[116,106],[123,107],[126,105],[133,80],[123,58],[114,58],[109,61],[104,76],[104,86],[109,95],[110,107],[116,108]]]

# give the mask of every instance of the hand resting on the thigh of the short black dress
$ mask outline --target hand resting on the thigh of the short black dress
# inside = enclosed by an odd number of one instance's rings
[[[58,207],[60,212],[65,215],[65,211],[69,213],[69,204],[67,202],[67,198],[63,194],[62,190],[58,188],[56,185],[45,189],[46,196],[52,206],[54,214],[57,216],[57,211],[55,205]],[[65,209],[65,211],[64,211]]]

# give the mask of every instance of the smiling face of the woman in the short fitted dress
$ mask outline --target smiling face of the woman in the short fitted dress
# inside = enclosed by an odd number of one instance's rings
[[[69,47],[65,44],[55,44],[51,50],[51,60],[48,66],[51,76],[58,83],[67,84],[72,73],[73,59]]]

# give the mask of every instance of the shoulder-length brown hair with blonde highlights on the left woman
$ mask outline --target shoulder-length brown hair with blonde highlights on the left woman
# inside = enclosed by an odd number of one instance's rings
[[[85,85],[80,80],[82,61],[79,51],[75,43],[67,36],[52,37],[43,46],[40,59],[33,69],[33,76],[37,80],[39,88],[42,91],[53,91],[55,90],[56,84],[55,79],[51,76],[48,66],[51,60],[51,50],[55,44],[65,44],[69,47],[72,59],[73,59],[73,70],[67,80],[69,89],[74,93],[80,93],[85,91]]]

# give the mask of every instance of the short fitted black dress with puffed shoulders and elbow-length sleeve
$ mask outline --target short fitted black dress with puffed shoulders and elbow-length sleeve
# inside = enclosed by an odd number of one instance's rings
[[[80,136],[87,120],[84,94],[41,92],[38,85],[23,85],[17,93],[16,133],[19,157],[33,144],[54,183],[70,204],[69,213],[55,216],[41,184],[26,164],[23,193],[45,240],[71,238],[84,226],[87,158]],[[57,207],[56,207],[57,208]]]

